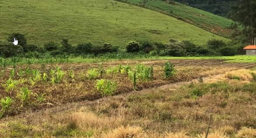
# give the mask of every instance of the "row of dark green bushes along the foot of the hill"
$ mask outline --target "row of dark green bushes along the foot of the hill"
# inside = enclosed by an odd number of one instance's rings
[[[18,40],[18,45],[12,43],[13,38]],[[58,55],[99,55],[107,53],[140,53],[152,56],[199,56],[199,55],[222,55],[232,56],[243,54],[243,46],[234,42],[225,43],[221,40],[209,40],[206,45],[195,45],[190,41],[177,41],[170,39],[163,44],[151,41],[129,41],[125,49],[113,46],[110,43],[94,45],[84,42],[75,46],[71,45],[67,39],[61,43],[50,41],[44,45],[27,44],[25,35],[19,33],[11,34],[7,40],[0,41],[0,57],[26,57],[38,58],[40,54],[47,53],[51,56]]]

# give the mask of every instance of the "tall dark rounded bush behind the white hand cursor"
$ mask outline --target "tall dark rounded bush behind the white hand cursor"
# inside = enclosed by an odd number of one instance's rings
[[[18,44],[23,48],[24,52],[27,52],[27,39],[25,38],[25,35],[20,33],[12,33],[7,38],[7,41],[13,43],[14,38],[18,40]]]

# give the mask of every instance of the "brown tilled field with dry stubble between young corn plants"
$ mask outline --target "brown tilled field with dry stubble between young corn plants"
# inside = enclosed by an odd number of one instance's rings
[[[209,75],[216,75],[224,73],[225,71],[236,70],[241,68],[252,68],[256,63],[227,63],[224,60],[168,60],[168,62],[175,65],[176,74],[168,79],[164,78],[164,63],[166,60],[150,60],[150,61],[114,61],[93,64],[48,64],[48,65],[20,65],[16,67],[14,73],[13,69],[1,68],[2,75],[0,75],[0,99],[4,97],[11,97],[13,99],[12,106],[8,111],[8,115],[16,115],[26,110],[39,110],[49,108],[51,106],[61,105],[67,102],[76,102],[83,100],[95,100],[103,97],[96,89],[96,82],[103,78],[116,82],[117,90],[112,95],[120,93],[128,93],[134,91],[131,79],[127,73],[120,71],[114,73],[103,73],[97,78],[88,79],[86,77],[89,69],[104,70],[117,68],[119,65],[128,65],[136,68],[137,65],[144,65],[145,67],[153,67],[153,79],[149,81],[138,80],[136,84],[136,91],[142,89],[158,87],[174,82],[190,81],[200,77]],[[51,83],[51,69],[59,67],[64,71],[65,75],[58,83]],[[26,71],[30,69],[31,71]],[[33,79],[33,70],[38,70],[41,76],[35,82]],[[57,70],[57,69],[56,69]],[[73,77],[70,77],[69,71],[73,72]],[[23,72],[24,75],[20,75]],[[43,81],[43,74],[48,78]],[[13,75],[12,80],[21,82],[7,91],[6,84],[10,76]],[[27,88],[31,91],[26,103],[20,97],[21,88]],[[42,96],[43,95],[43,96]],[[39,101],[39,98],[41,100]]]

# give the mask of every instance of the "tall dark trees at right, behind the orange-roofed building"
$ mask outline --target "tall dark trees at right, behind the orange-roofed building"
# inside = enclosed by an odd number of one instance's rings
[[[243,33],[248,39],[248,43],[254,43],[256,37],[256,1],[242,0],[231,7],[229,18],[244,25]]]

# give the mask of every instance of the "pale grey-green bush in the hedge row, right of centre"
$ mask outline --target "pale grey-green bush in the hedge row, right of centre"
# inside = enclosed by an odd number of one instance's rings
[[[166,45],[166,54],[170,56],[184,56],[184,46],[183,42],[171,39]]]

